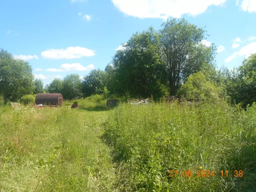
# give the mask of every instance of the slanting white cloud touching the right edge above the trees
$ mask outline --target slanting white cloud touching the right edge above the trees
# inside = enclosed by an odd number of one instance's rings
[[[248,58],[254,53],[256,53],[256,42],[251,42],[250,44],[242,47],[239,51],[234,52],[231,56],[225,59],[225,62],[230,62],[237,56],[245,56],[245,58]]]

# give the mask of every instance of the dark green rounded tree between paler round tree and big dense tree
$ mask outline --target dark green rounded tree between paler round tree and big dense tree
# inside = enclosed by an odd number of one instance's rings
[[[106,72],[101,69],[91,70],[82,81],[84,97],[89,97],[92,94],[102,94],[104,86],[106,86]]]

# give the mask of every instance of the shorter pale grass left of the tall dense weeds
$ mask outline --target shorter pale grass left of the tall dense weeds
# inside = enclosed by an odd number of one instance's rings
[[[114,191],[111,111],[5,107],[0,119],[0,191]]]

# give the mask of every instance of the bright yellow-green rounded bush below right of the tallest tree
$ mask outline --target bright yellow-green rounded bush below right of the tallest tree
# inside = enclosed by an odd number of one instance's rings
[[[180,93],[187,100],[217,100],[220,97],[221,89],[210,81],[200,71],[190,75],[185,84],[180,88]]]

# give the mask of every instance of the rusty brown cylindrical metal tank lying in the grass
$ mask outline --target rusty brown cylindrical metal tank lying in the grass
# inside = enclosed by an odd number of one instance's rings
[[[63,97],[61,93],[39,93],[36,95],[36,105],[62,106]]]

